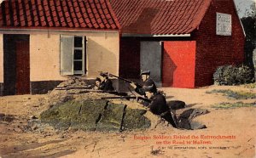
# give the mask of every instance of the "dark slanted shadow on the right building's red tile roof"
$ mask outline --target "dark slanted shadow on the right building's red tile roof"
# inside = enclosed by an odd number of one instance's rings
[[[123,28],[123,31],[131,31],[140,33],[149,33],[151,32],[151,22],[154,20],[156,14],[158,14],[159,9],[155,8],[144,8],[143,12],[139,15],[137,21],[135,23],[131,23]],[[150,25],[150,27],[145,27],[146,25]]]

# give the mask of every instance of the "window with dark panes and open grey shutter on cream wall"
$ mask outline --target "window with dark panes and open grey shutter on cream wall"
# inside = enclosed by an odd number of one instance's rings
[[[61,75],[86,73],[86,37],[61,36]]]

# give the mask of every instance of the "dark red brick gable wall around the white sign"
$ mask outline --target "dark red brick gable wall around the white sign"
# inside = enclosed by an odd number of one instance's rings
[[[231,14],[232,36],[216,35],[216,12]],[[211,85],[212,75],[218,66],[241,64],[243,61],[245,38],[232,0],[213,0],[192,37],[196,40],[196,87]]]

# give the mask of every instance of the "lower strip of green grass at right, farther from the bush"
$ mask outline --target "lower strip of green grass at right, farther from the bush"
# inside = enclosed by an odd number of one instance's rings
[[[256,107],[256,103],[220,103],[220,104],[213,104],[212,108],[215,109],[231,109],[231,108],[241,108],[241,107]]]

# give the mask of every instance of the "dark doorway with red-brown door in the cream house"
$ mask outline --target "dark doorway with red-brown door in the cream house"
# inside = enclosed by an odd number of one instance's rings
[[[29,35],[3,35],[3,94],[30,93]]]

